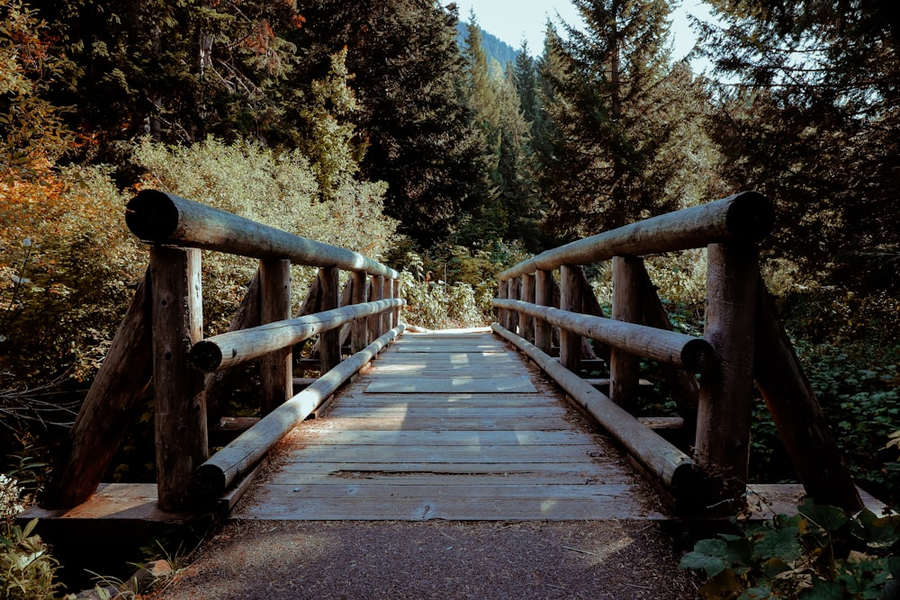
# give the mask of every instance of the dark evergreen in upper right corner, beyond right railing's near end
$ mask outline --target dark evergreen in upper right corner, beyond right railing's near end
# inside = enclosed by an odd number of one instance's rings
[[[838,264],[874,288],[900,255],[900,19],[888,0],[712,2],[700,27],[725,84],[710,130],[734,186],[773,198],[779,246],[820,279]]]

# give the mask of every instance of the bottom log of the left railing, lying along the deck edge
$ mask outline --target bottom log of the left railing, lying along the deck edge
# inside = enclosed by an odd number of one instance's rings
[[[335,393],[350,377],[380,353],[406,328],[402,323],[376,339],[363,350],[352,355],[337,367],[280,407],[261,418],[236,440],[229,443],[210,459],[197,467],[194,483],[197,492],[206,501],[214,501],[241,475],[266,455],[275,443],[284,437],[294,425],[300,423],[321,402]]]

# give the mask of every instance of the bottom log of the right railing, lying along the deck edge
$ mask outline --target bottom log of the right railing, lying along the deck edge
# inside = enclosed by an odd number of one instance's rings
[[[624,408],[595,390],[590,383],[557,363],[552,356],[541,352],[536,345],[500,327],[497,323],[493,323],[491,329],[518,347],[541,367],[572,399],[622,443],[635,459],[653,473],[666,488],[671,489],[676,497],[694,497],[702,491],[702,471],[687,454],[641,424]]]

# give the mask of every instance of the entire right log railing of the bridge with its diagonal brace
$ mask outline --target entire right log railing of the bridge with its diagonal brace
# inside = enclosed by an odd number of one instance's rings
[[[761,280],[758,245],[773,224],[770,201],[739,193],[548,250],[500,273],[494,300],[499,323],[493,327],[545,367],[676,499],[706,506],[734,499],[730,506],[741,505],[755,380],[807,494],[858,510],[859,492]],[[693,248],[707,248],[707,315],[703,339],[688,340],[662,328],[666,319],[642,256]],[[581,282],[582,265],[607,260],[613,265],[613,318],[580,314],[582,294],[592,294]],[[551,305],[557,269],[561,309]],[[529,298],[534,287],[535,300],[518,300],[512,291],[519,281]],[[560,329],[559,363],[549,356],[554,326]],[[579,379],[582,337],[610,349],[609,398],[598,399],[599,392],[572,380]],[[636,406],[639,357],[660,362],[675,372],[681,390],[696,394],[680,405],[686,422],[696,420],[692,457],[629,414]],[[695,469],[703,473],[702,485]],[[682,471],[691,476],[677,475]]]

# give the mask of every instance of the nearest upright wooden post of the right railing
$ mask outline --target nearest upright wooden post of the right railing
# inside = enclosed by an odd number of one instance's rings
[[[718,499],[741,497],[750,456],[756,290],[756,246],[707,248],[707,316],[704,339],[716,349],[718,368],[700,381],[697,459],[722,488]]]

